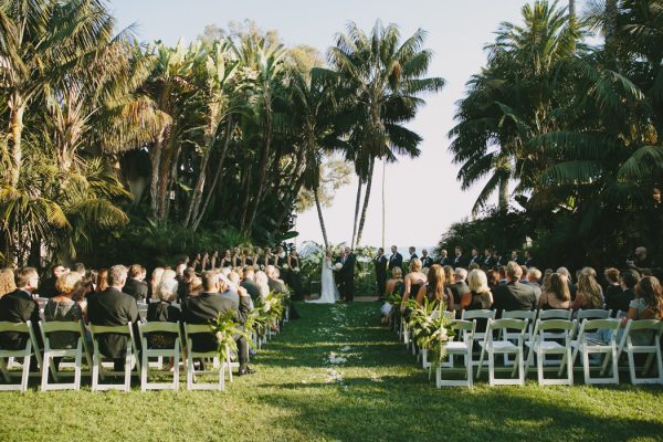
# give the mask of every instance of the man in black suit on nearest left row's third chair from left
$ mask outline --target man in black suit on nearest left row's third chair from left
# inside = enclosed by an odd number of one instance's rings
[[[108,288],[87,295],[87,322],[93,325],[119,326],[138,323],[138,306],[131,295],[122,290],[127,282],[127,267],[108,270]],[[115,370],[123,371],[127,351],[126,335],[105,334],[98,337],[101,352],[115,359]]]

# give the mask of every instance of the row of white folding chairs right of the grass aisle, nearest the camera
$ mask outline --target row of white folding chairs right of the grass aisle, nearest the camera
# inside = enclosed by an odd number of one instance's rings
[[[445,314],[453,319],[453,312]],[[480,377],[484,364],[487,364],[491,386],[522,386],[527,372],[534,368],[535,359],[539,385],[573,385],[578,357],[581,358],[585,383],[619,383],[619,360],[624,352],[633,385],[663,383],[663,322],[629,320],[620,335],[621,320],[610,318],[608,311],[579,311],[575,319],[570,314],[570,311],[503,312],[502,318],[495,319],[494,311],[464,311],[462,318],[453,323],[459,339],[448,344],[448,360],[436,368],[438,388],[471,387],[473,379]],[[487,322],[485,332],[476,332],[477,319]],[[651,341],[646,345],[635,344],[635,333],[648,333]],[[608,335],[610,338],[607,341],[600,338]],[[404,333],[402,336],[406,339],[408,337]],[[427,351],[417,349],[414,343],[407,345],[412,345],[413,352],[422,357],[423,367],[431,370]],[[477,346],[481,349],[478,360],[474,351]],[[592,355],[598,358],[592,359]],[[638,376],[636,355],[646,355],[641,377]],[[445,379],[445,373],[459,370],[454,366],[454,356],[464,359],[462,371],[465,379]],[[502,367],[496,365],[498,356],[504,357]],[[509,357],[515,360],[509,360]],[[594,361],[600,364],[594,366]],[[654,365],[656,376],[646,377]],[[474,367],[477,367],[475,376]],[[497,378],[497,371],[511,372],[511,378]],[[557,376],[564,375],[564,378],[547,378],[546,371],[557,371]],[[599,371],[599,375],[594,376],[592,371]]]

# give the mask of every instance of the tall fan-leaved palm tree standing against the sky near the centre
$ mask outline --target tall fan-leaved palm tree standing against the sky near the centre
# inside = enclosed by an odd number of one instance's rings
[[[432,59],[431,51],[422,49],[424,40],[421,29],[401,43],[396,24],[383,27],[377,21],[367,35],[356,23],[349,23],[347,33],[337,34],[336,45],[328,51],[329,64],[354,93],[356,125],[348,159],[355,162],[359,181],[355,225],[366,183],[352,248],[361,241],[376,159],[396,161],[397,155],[419,156],[421,137],[403,124],[413,119],[423,105],[422,94],[438,92],[444,85],[440,77],[424,77]]]

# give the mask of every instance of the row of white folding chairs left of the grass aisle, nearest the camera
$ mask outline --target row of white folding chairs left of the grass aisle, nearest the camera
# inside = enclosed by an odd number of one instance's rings
[[[131,376],[139,377],[140,388],[146,390],[179,389],[180,358],[186,361],[185,370],[187,375],[187,389],[215,389],[223,390],[225,386],[225,371],[228,370],[229,380],[232,382],[232,368],[238,364],[231,360],[230,351],[227,348],[228,360],[219,361],[215,350],[193,351],[192,336],[198,334],[211,334],[208,325],[193,325],[183,323],[138,323],[138,336],[134,333],[131,325],[125,326],[98,326],[88,325],[87,329],[92,337],[92,351],[90,343],[86,339],[85,324],[81,322],[40,322],[39,330],[41,341],[43,343],[43,354],[40,351],[35,330],[31,323],[4,323],[0,322],[0,333],[15,333],[25,336],[25,346],[19,350],[0,349],[0,372],[7,383],[0,385],[0,390],[20,390],[27,391],[30,378],[31,358],[34,357],[41,367],[41,390],[62,390],[81,388],[81,378],[83,375],[83,358],[86,359],[88,373],[92,378],[92,390],[123,390],[129,391],[131,386]],[[185,339],[182,340],[182,330]],[[53,334],[71,334],[75,337],[76,345],[73,348],[54,348],[51,346],[50,337]],[[113,362],[107,359],[99,350],[98,337],[105,334],[124,335],[127,337],[127,350],[125,354],[125,364],[123,371],[114,371],[108,367]],[[149,346],[148,335],[169,334],[175,337],[172,348],[152,348]],[[273,332],[270,332],[272,336]],[[139,340],[137,340],[139,339]],[[265,338],[266,339],[266,338]],[[138,343],[141,346],[138,346]],[[186,343],[186,345],[182,345]],[[138,348],[141,350],[138,351]],[[138,357],[140,354],[140,358]],[[43,355],[43,357],[42,357]],[[59,370],[55,367],[54,359],[73,358],[74,362],[69,364],[72,371]],[[164,358],[172,358],[172,371],[164,370]],[[7,361],[6,361],[7,359]],[[12,378],[17,373],[10,370],[12,365],[19,365],[15,360],[22,359],[20,365],[20,381],[12,383]],[[154,359],[157,359],[156,364]],[[194,359],[213,361],[212,370],[204,370],[204,364],[201,369],[196,369]],[[150,362],[152,360],[152,362]],[[61,362],[63,365],[64,362]],[[63,365],[64,368],[66,366]],[[157,368],[157,369],[152,369]],[[160,369],[159,369],[160,368]],[[201,375],[217,373],[219,380],[214,383],[197,382],[196,377]],[[73,382],[62,382],[61,379],[71,377]],[[171,376],[170,382],[151,381],[152,376]],[[123,376],[123,383],[106,383],[106,378],[110,376]],[[50,381],[52,378],[53,381]]]

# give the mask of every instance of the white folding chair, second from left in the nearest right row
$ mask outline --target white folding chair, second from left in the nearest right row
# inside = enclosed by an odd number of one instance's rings
[[[524,341],[525,332],[527,329],[527,320],[525,319],[494,319],[488,320],[486,328],[486,336],[484,341],[481,343],[481,357],[478,359],[478,368],[476,369],[476,377],[481,375],[483,367],[484,355],[488,354],[488,383],[491,386],[524,386],[525,385],[525,357],[524,357]],[[512,330],[512,340],[495,340],[493,335],[495,333],[506,333]],[[517,338],[513,338],[515,334],[513,330],[518,330],[519,335]],[[515,376],[516,370],[518,371],[518,379],[497,379],[495,377],[495,355],[514,355],[516,360],[512,371],[512,378]]]

